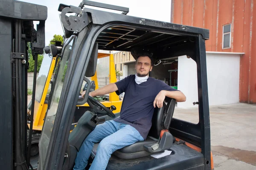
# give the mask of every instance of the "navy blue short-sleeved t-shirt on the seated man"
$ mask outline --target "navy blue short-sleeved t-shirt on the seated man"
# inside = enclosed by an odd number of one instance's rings
[[[118,88],[116,94],[119,95],[125,92],[125,96],[122,102],[120,118],[114,120],[131,125],[146,139],[152,125],[155,97],[161,90],[177,90],[171,88],[165,82],[151,77],[148,77],[146,82],[138,85],[135,82],[135,75],[125,77],[115,84]]]

